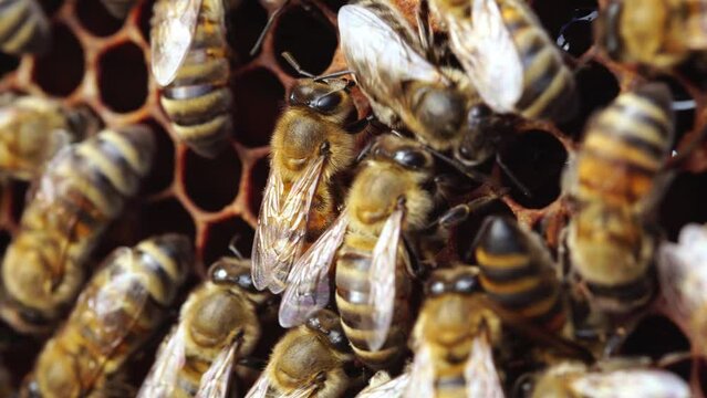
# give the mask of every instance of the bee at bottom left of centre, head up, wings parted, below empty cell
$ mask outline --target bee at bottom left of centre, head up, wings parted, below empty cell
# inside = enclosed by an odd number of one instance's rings
[[[209,280],[181,306],[137,396],[225,397],[237,358],[260,339],[258,310],[269,298],[252,285],[249,260],[215,262]]]

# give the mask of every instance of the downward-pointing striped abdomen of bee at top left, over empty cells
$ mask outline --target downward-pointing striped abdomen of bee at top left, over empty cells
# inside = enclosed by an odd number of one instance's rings
[[[206,157],[215,157],[223,148],[232,128],[223,12],[220,0],[204,1],[191,48],[174,82],[160,94],[175,133]]]

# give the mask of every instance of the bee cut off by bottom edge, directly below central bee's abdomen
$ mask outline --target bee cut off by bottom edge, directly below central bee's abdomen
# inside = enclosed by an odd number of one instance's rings
[[[322,310],[278,342],[246,397],[341,397],[355,383],[347,374],[353,358],[339,316]]]

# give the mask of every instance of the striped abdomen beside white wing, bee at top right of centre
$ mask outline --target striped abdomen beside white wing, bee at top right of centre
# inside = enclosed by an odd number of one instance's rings
[[[530,119],[572,116],[574,76],[559,50],[522,0],[497,1],[522,62],[523,88],[516,109]]]

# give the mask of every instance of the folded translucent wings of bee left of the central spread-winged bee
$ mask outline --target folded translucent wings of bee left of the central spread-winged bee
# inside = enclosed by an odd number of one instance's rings
[[[310,163],[282,206],[284,185],[278,172],[270,172],[253,239],[252,277],[258,290],[268,287],[275,294],[284,290],[292,263],[304,244],[306,221],[323,167],[324,156]]]

